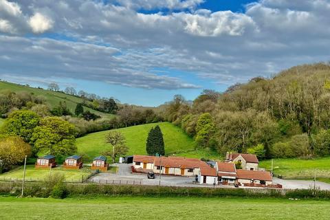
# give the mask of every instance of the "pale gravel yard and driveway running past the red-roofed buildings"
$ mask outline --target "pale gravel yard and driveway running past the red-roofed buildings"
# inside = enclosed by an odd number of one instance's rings
[[[159,175],[155,179],[148,179],[146,174],[131,173],[131,164],[115,164],[118,166],[118,173],[99,173],[89,179],[90,181],[135,181],[142,185],[159,185]],[[195,177],[175,177],[162,175],[160,184],[162,186],[188,186],[188,187],[213,187],[212,185],[194,184]],[[273,184],[281,184],[285,189],[309,189],[314,187],[314,181],[278,179],[273,178]],[[233,186],[218,185],[217,188],[233,188]],[[330,190],[330,184],[316,181],[316,188]]]

